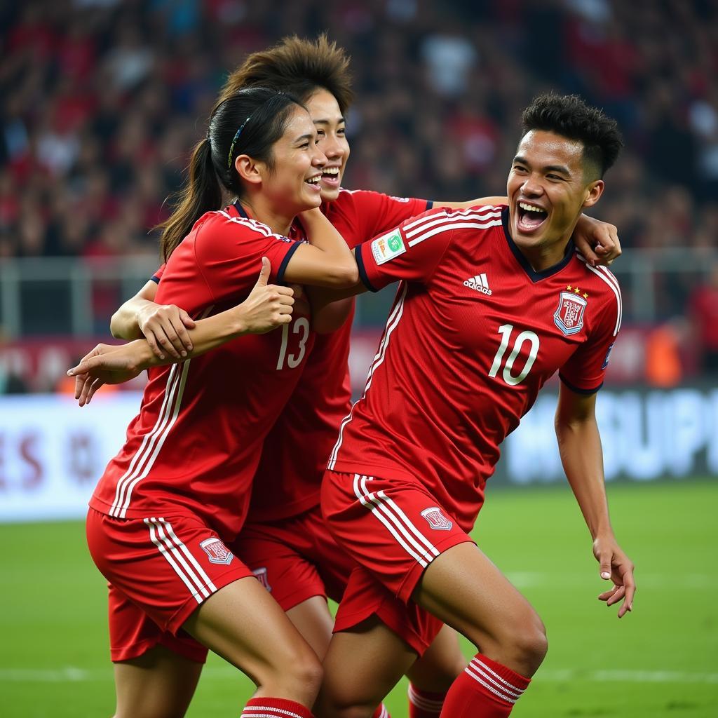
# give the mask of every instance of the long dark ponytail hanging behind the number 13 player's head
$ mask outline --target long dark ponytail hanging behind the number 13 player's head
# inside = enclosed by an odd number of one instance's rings
[[[190,233],[195,222],[205,213],[222,206],[222,188],[212,162],[209,139],[203,139],[192,152],[190,178],[178,196],[172,216],[157,225],[162,230],[159,248],[162,261],[167,261],[177,245]]]

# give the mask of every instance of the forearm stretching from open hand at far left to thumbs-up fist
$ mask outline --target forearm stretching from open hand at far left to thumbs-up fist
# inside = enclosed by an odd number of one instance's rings
[[[207,353],[243,334],[264,334],[292,320],[292,289],[268,285],[270,271],[269,260],[262,258],[259,279],[244,302],[197,321],[190,330],[192,350],[187,358]],[[84,406],[103,384],[124,383],[151,366],[182,360],[173,356],[159,358],[146,339],[119,346],[99,344],[67,375],[75,377],[75,398]]]

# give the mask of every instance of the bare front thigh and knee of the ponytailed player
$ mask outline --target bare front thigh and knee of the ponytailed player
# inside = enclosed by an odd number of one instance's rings
[[[321,668],[316,654],[253,577],[218,590],[183,628],[260,687],[318,685]]]

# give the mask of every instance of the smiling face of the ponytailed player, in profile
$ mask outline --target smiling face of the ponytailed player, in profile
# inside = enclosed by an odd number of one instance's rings
[[[327,162],[317,146],[317,131],[312,118],[304,108],[292,111],[284,134],[272,145],[274,167],[254,162],[246,154],[237,157],[235,166],[243,180],[261,187],[261,197],[252,198],[277,213],[296,215],[304,210],[319,207],[322,202],[320,178]]]

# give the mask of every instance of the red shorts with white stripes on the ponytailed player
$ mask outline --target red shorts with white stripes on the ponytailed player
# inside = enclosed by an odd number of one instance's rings
[[[87,538],[93,561],[111,584],[116,661],[158,643],[202,660],[200,644],[182,632],[182,624],[220,588],[252,575],[218,534],[190,513],[121,519],[90,508]]]

